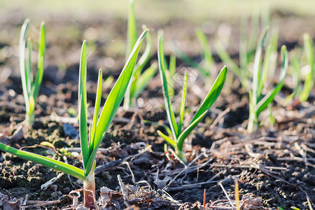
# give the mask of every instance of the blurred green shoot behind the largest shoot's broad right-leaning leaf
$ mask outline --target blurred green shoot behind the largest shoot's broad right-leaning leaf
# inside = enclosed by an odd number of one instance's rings
[[[137,40],[137,21],[136,15],[134,14],[134,0],[129,0],[129,13],[128,13],[128,31],[127,39],[130,41],[127,46],[127,55],[130,54],[130,50],[134,47],[135,41]],[[142,29],[146,30],[146,26],[142,26]],[[129,109],[130,106],[136,104],[136,99],[142,90],[148,85],[149,81],[155,75],[157,66],[152,64],[148,69],[144,70],[144,67],[148,63],[151,56],[152,41],[151,35],[148,33],[146,35],[146,49],[141,55],[139,61],[134,66],[134,73],[132,75],[132,80],[127,88],[125,99],[124,99],[124,109]]]

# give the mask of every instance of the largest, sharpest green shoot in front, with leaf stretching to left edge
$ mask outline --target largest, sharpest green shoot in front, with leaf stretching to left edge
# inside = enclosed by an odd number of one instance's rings
[[[95,199],[95,183],[94,183],[94,169],[96,165],[95,157],[97,150],[104,139],[106,131],[115,116],[120,103],[123,100],[127,86],[132,77],[132,71],[137,61],[137,55],[144,36],[148,30],[144,31],[139,37],[137,43],[134,45],[130,57],[127,59],[123,71],[120,73],[116,84],[107,97],[102,112],[99,116],[101,95],[102,95],[102,69],[99,70],[99,78],[97,83],[97,97],[95,102],[94,116],[92,125],[90,126],[90,133],[87,134],[87,93],[86,93],[86,71],[87,71],[87,53],[86,41],[83,41],[81,57],[80,57],[80,78],[79,78],[79,123],[80,123],[80,148],[82,151],[83,169],[73,167],[72,165],[47,158],[45,156],[29,153],[27,151],[20,151],[5,144],[0,143],[0,149],[20,158],[37,162],[38,164],[56,169],[83,181],[84,188],[84,204],[87,208],[94,208]]]

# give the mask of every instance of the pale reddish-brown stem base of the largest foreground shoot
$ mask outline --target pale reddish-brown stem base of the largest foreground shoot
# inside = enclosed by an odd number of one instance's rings
[[[94,168],[95,168],[95,162],[94,162],[94,167],[90,171],[90,174],[88,174],[86,176],[85,181],[83,181],[84,206],[90,209],[95,209],[94,200],[96,200]]]

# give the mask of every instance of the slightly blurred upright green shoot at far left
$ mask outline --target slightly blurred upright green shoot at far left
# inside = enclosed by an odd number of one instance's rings
[[[43,66],[45,58],[45,25],[41,23],[41,30],[38,40],[38,61],[37,61],[37,74],[34,80],[33,73],[31,71],[31,41],[27,42],[28,59],[25,56],[25,45],[27,38],[27,29],[29,27],[29,19],[25,20],[22,25],[19,43],[20,54],[20,73],[22,80],[22,89],[25,99],[26,116],[25,120],[28,123],[34,121],[34,111],[36,106],[36,97],[38,95],[39,87],[41,86],[41,80],[43,78]]]

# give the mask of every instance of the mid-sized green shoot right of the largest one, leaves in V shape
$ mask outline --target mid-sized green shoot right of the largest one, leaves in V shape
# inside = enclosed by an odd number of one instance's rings
[[[207,112],[209,111],[210,107],[214,102],[216,102],[216,99],[218,98],[219,94],[221,93],[221,90],[223,88],[223,84],[225,82],[226,74],[227,74],[227,67],[223,67],[221,72],[218,74],[218,77],[216,78],[214,85],[212,85],[209,93],[207,94],[207,97],[204,99],[204,102],[200,105],[200,108],[198,109],[197,113],[195,113],[195,116],[193,117],[193,120],[191,120],[188,127],[186,127],[185,130],[182,131],[183,127],[183,116],[185,113],[185,104],[186,104],[186,91],[187,91],[187,73],[185,73],[185,79],[183,83],[183,96],[181,99],[181,107],[180,107],[180,113],[179,113],[179,123],[176,123],[176,118],[174,115],[174,111],[172,109],[172,104],[169,99],[169,90],[168,90],[168,81],[167,81],[167,75],[166,75],[166,63],[165,63],[165,55],[163,50],[163,43],[162,43],[162,36],[160,35],[158,38],[158,62],[159,62],[159,69],[160,69],[160,78],[162,81],[162,89],[163,89],[163,96],[165,100],[165,109],[167,112],[167,118],[169,120],[169,125],[172,130],[172,137],[169,137],[160,130],[158,130],[158,134],[160,137],[163,137],[167,143],[169,143],[171,146],[175,148],[176,154],[181,158],[181,160],[186,161],[186,157],[183,153],[183,143],[185,139],[188,137],[188,135],[194,130],[194,128],[200,123],[202,118],[206,116]]]

